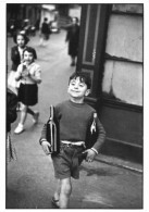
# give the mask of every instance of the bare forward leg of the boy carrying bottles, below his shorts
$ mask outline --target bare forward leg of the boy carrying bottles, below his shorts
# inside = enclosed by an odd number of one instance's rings
[[[61,179],[60,209],[67,209],[72,192],[71,177]]]

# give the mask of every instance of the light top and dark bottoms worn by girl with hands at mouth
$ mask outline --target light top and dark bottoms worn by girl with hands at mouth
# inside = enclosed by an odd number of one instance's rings
[[[20,64],[16,76],[20,76],[23,72],[28,72],[29,75],[35,76],[37,79],[41,79],[40,66],[35,62],[27,67],[25,66],[25,63]],[[18,101],[25,105],[35,105],[38,102],[38,86],[30,76],[25,76],[21,79]]]

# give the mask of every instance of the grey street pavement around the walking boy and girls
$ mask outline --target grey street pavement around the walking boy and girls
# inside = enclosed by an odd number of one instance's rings
[[[25,130],[14,135],[20,119],[12,124],[12,140],[17,161],[7,167],[7,209],[53,209],[51,197],[55,182],[50,155],[47,157],[39,137],[49,115],[50,104],[67,99],[67,80],[75,67],[70,66],[65,32],[51,35],[46,47],[39,47],[39,35],[30,37],[28,46],[35,47],[37,62],[42,67],[39,86],[39,122],[33,125],[28,115]],[[11,66],[8,38],[8,67]],[[114,157],[99,154],[92,163],[83,162],[79,180],[72,179],[71,209],[142,209],[142,165]]]

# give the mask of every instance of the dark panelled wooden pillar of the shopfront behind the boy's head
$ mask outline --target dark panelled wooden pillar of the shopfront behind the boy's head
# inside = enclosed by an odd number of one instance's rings
[[[96,105],[101,93],[103,59],[110,4],[83,4],[77,71],[90,75],[91,93],[86,99]]]

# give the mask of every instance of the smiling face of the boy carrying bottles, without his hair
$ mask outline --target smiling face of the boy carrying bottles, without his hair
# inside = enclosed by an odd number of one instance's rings
[[[85,96],[89,95],[90,90],[87,88],[87,85],[77,77],[71,79],[67,92],[74,99],[84,99]]]

